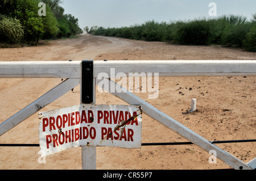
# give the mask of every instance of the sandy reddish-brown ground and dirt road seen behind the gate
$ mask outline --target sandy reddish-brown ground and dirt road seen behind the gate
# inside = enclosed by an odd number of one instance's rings
[[[115,37],[80,36],[54,40],[38,47],[0,49],[0,61],[60,60],[256,60],[256,53],[220,46],[181,46]],[[60,83],[60,79],[0,79],[0,123]],[[159,98],[135,93],[209,141],[255,139],[255,77],[163,77]],[[191,89],[189,89],[191,88]],[[182,91],[183,94],[179,94]],[[197,111],[189,110],[197,99]],[[97,92],[97,104],[126,104]],[[79,86],[42,111],[80,104]],[[142,142],[187,141],[143,115]],[[38,113],[0,137],[0,143],[38,144]],[[256,157],[254,142],[218,144],[238,159]],[[81,148],[72,148],[38,162],[39,147],[1,147],[0,169],[81,169]],[[229,169],[196,145],[142,146],[141,149],[97,147],[97,169]]]

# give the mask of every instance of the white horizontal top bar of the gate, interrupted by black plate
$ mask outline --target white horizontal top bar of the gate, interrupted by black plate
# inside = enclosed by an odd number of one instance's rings
[[[0,62],[0,78],[81,78],[81,61]],[[93,78],[107,73],[159,73],[168,76],[256,75],[254,60],[94,61]],[[115,69],[115,74],[111,72]]]

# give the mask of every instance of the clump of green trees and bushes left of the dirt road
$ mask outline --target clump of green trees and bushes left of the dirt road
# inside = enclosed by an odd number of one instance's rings
[[[40,16],[39,3],[46,16]],[[0,42],[38,44],[39,39],[57,39],[82,33],[79,20],[64,14],[61,0],[0,0]]]

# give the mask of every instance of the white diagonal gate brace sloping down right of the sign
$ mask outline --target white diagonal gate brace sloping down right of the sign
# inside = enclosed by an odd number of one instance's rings
[[[114,86],[114,87],[116,85],[118,85],[116,82],[114,82],[112,80],[110,80],[110,81],[108,80],[108,83],[110,83],[110,86]],[[120,86],[120,85],[118,85],[118,86]],[[122,87],[122,86],[120,86],[120,87]],[[215,150],[216,154],[217,154],[217,158],[221,159],[223,162],[225,162],[230,167],[233,167],[233,169],[236,169],[236,170],[251,170],[252,169],[249,165],[240,161],[240,159],[237,159],[232,154],[228,153],[225,150],[222,150],[218,146],[211,144],[204,137],[193,132],[191,129],[185,127],[183,124],[179,123],[172,117],[166,115],[166,113],[163,113],[162,111],[158,110],[157,108],[155,108],[151,104],[147,103],[143,99],[139,98],[137,95],[134,95],[133,93],[129,92],[125,88],[122,87],[121,92],[111,92],[110,91],[110,93],[131,105],[141,105],[143,107],[143,112],[146,113],[146,115],[152,117],[152,119],[155,119],[159,123],[165,125],[167,128],[176,132],[180,136],[183,136],[184,138],[191,141],[193,144],[199,146],[200,148],[202,148],[206,151]]]

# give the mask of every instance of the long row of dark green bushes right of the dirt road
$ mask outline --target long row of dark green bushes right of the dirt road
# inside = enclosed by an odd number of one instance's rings
[[[168,41],[174,44],[240,47],[256,52],[256,14],[247,20],[241,15],[158,23],[155,20],[130,27],[104,28],[93,26],[92,35],[115,36],[144,41]]]

